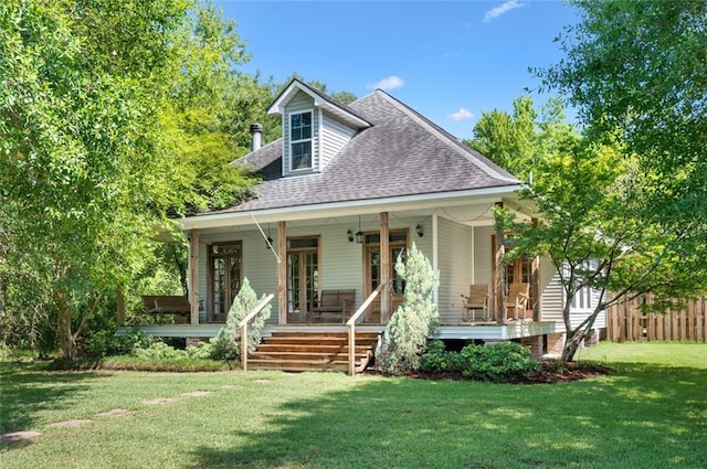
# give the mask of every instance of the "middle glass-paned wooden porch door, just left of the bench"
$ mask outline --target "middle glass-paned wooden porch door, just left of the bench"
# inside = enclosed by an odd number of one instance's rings
[[[287,322],[306,322],[319,289],[319,238],[287,239]]]

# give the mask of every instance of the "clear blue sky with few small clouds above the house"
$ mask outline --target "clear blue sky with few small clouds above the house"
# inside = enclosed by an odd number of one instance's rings
[[[552,42],[576,10],[560,1],[214,1],[238,22],[245,72],[294,72],[329,92],[379,87],[458,138],[482,111],[510,110],[561,57]],[[540,104],[548,95],[530,93]]]

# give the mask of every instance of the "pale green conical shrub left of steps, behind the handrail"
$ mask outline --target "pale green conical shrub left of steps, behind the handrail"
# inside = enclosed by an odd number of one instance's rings
[[[264,299],[265,295],[261,298]],[[241,322],[255,307],[258,300],[255,290],[251,287],[247,278],[243,279],[243,285],[238,295],[233,299],[233,305],[229,309],[225,326],[219,330],[219,333],[211,339],[213,360],[238,360],[241,356]],[[261,332],[265,327],[265,321],[270,318],[272,307],[267,305],[260,313],[253,318],[249,324],[249,351],[254,351],[261,342]]]

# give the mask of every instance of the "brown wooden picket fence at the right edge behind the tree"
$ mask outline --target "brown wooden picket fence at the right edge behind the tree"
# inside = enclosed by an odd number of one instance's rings
[[[684,309],[665,315],[644,313],[641,305],[651,301],[640,297],[609,309],[606,339],[625,341],[696,341],[707,342],[707,300],[689,300]]]

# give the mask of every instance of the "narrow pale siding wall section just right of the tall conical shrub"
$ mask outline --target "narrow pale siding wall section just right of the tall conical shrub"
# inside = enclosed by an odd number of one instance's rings
[[[440,321],[461,319],[462,294],[468,292],[472,281],[472,228],[440,217],[437,253],[440,269]]]

